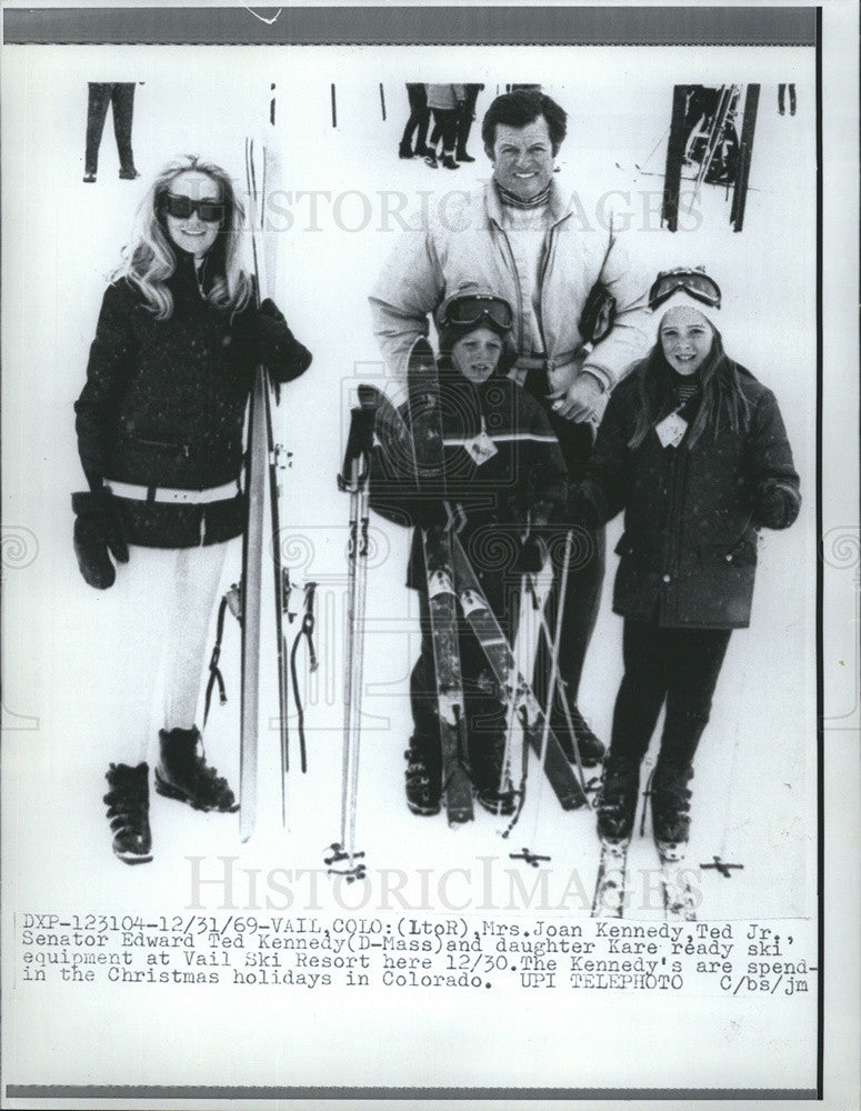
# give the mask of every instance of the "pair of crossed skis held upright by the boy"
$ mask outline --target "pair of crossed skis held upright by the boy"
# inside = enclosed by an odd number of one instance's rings
[[[399,454],[412,453],[410,463],[419,493],[444,500],[442,406],[437,361],[427,340],[416,341],[409,359],[409,429],[386,397],[371,387],[361,389],[377,410],[378,424],[384,438],[396,444],[394,450]],[[574,777],[558,738],[550,730],[530,683],[518,668],[511,645],[484,600],[478,577],[457,534],[450,527],[441,524],[423,528],[421,534],[449,824],[459,825],[474,817],[460,669],[458,603],[503,692],[510,715],[517,714],[527,723],[530,745],[541,758],[560,805],[563,810],[582,805],[585,802],[583,788]]]

